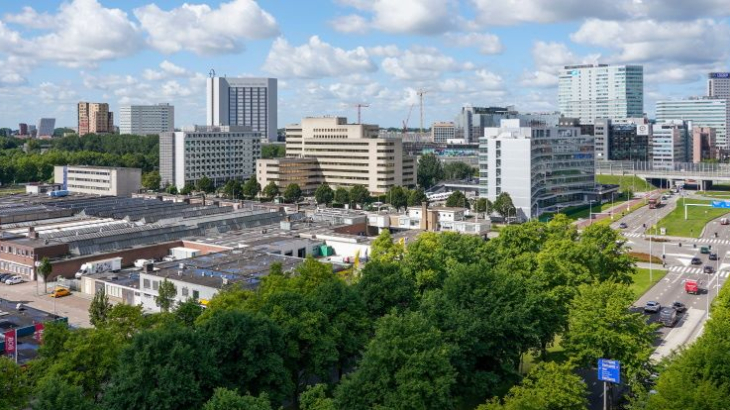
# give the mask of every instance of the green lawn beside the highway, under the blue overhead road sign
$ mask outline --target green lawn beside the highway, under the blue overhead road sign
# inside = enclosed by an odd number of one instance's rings
[[[697,238],[708,222],[728,213],[727,209],[705,206],[687,208],[687,220],[684,219],[684,202],[688,204],[710,204],[710,201],[682,198],[677,201],[677,208],[659,220],[657,228],[667,228],[667,235]]]

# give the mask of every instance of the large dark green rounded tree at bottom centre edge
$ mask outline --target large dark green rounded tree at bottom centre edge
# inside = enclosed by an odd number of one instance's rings
[[[453,408],[456,370],[441,332],[423,315],[406,312],[378,321],[362,360],[335,391],[337,408]]]

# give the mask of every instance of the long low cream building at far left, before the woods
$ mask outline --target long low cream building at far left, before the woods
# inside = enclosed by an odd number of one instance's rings
[[[131,196],[142,188],[139,168],[58,165],[53,180],[69,192],[91,195]]]

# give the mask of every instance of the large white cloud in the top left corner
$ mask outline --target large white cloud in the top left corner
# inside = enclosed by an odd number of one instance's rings
[[[35,13],[24,10],[24,16]],[[25,17],[18,15],[11,20]],[[102,7],[96,0],[74,0],[63,3],[47,34],[23,38],[0,22],[0,51],[34,61],[55,61],[69,67],[94,66],[99,61],[113,60],[139,51],[141,36],[137,27],[120,9]]]

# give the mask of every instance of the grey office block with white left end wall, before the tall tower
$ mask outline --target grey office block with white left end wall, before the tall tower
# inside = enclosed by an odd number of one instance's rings
[[[216,186],[229,179],[245,180],[261,158],[261,133],[242,126],[193,126],[160,133],[162,185],[196,184],[210,178]]]

